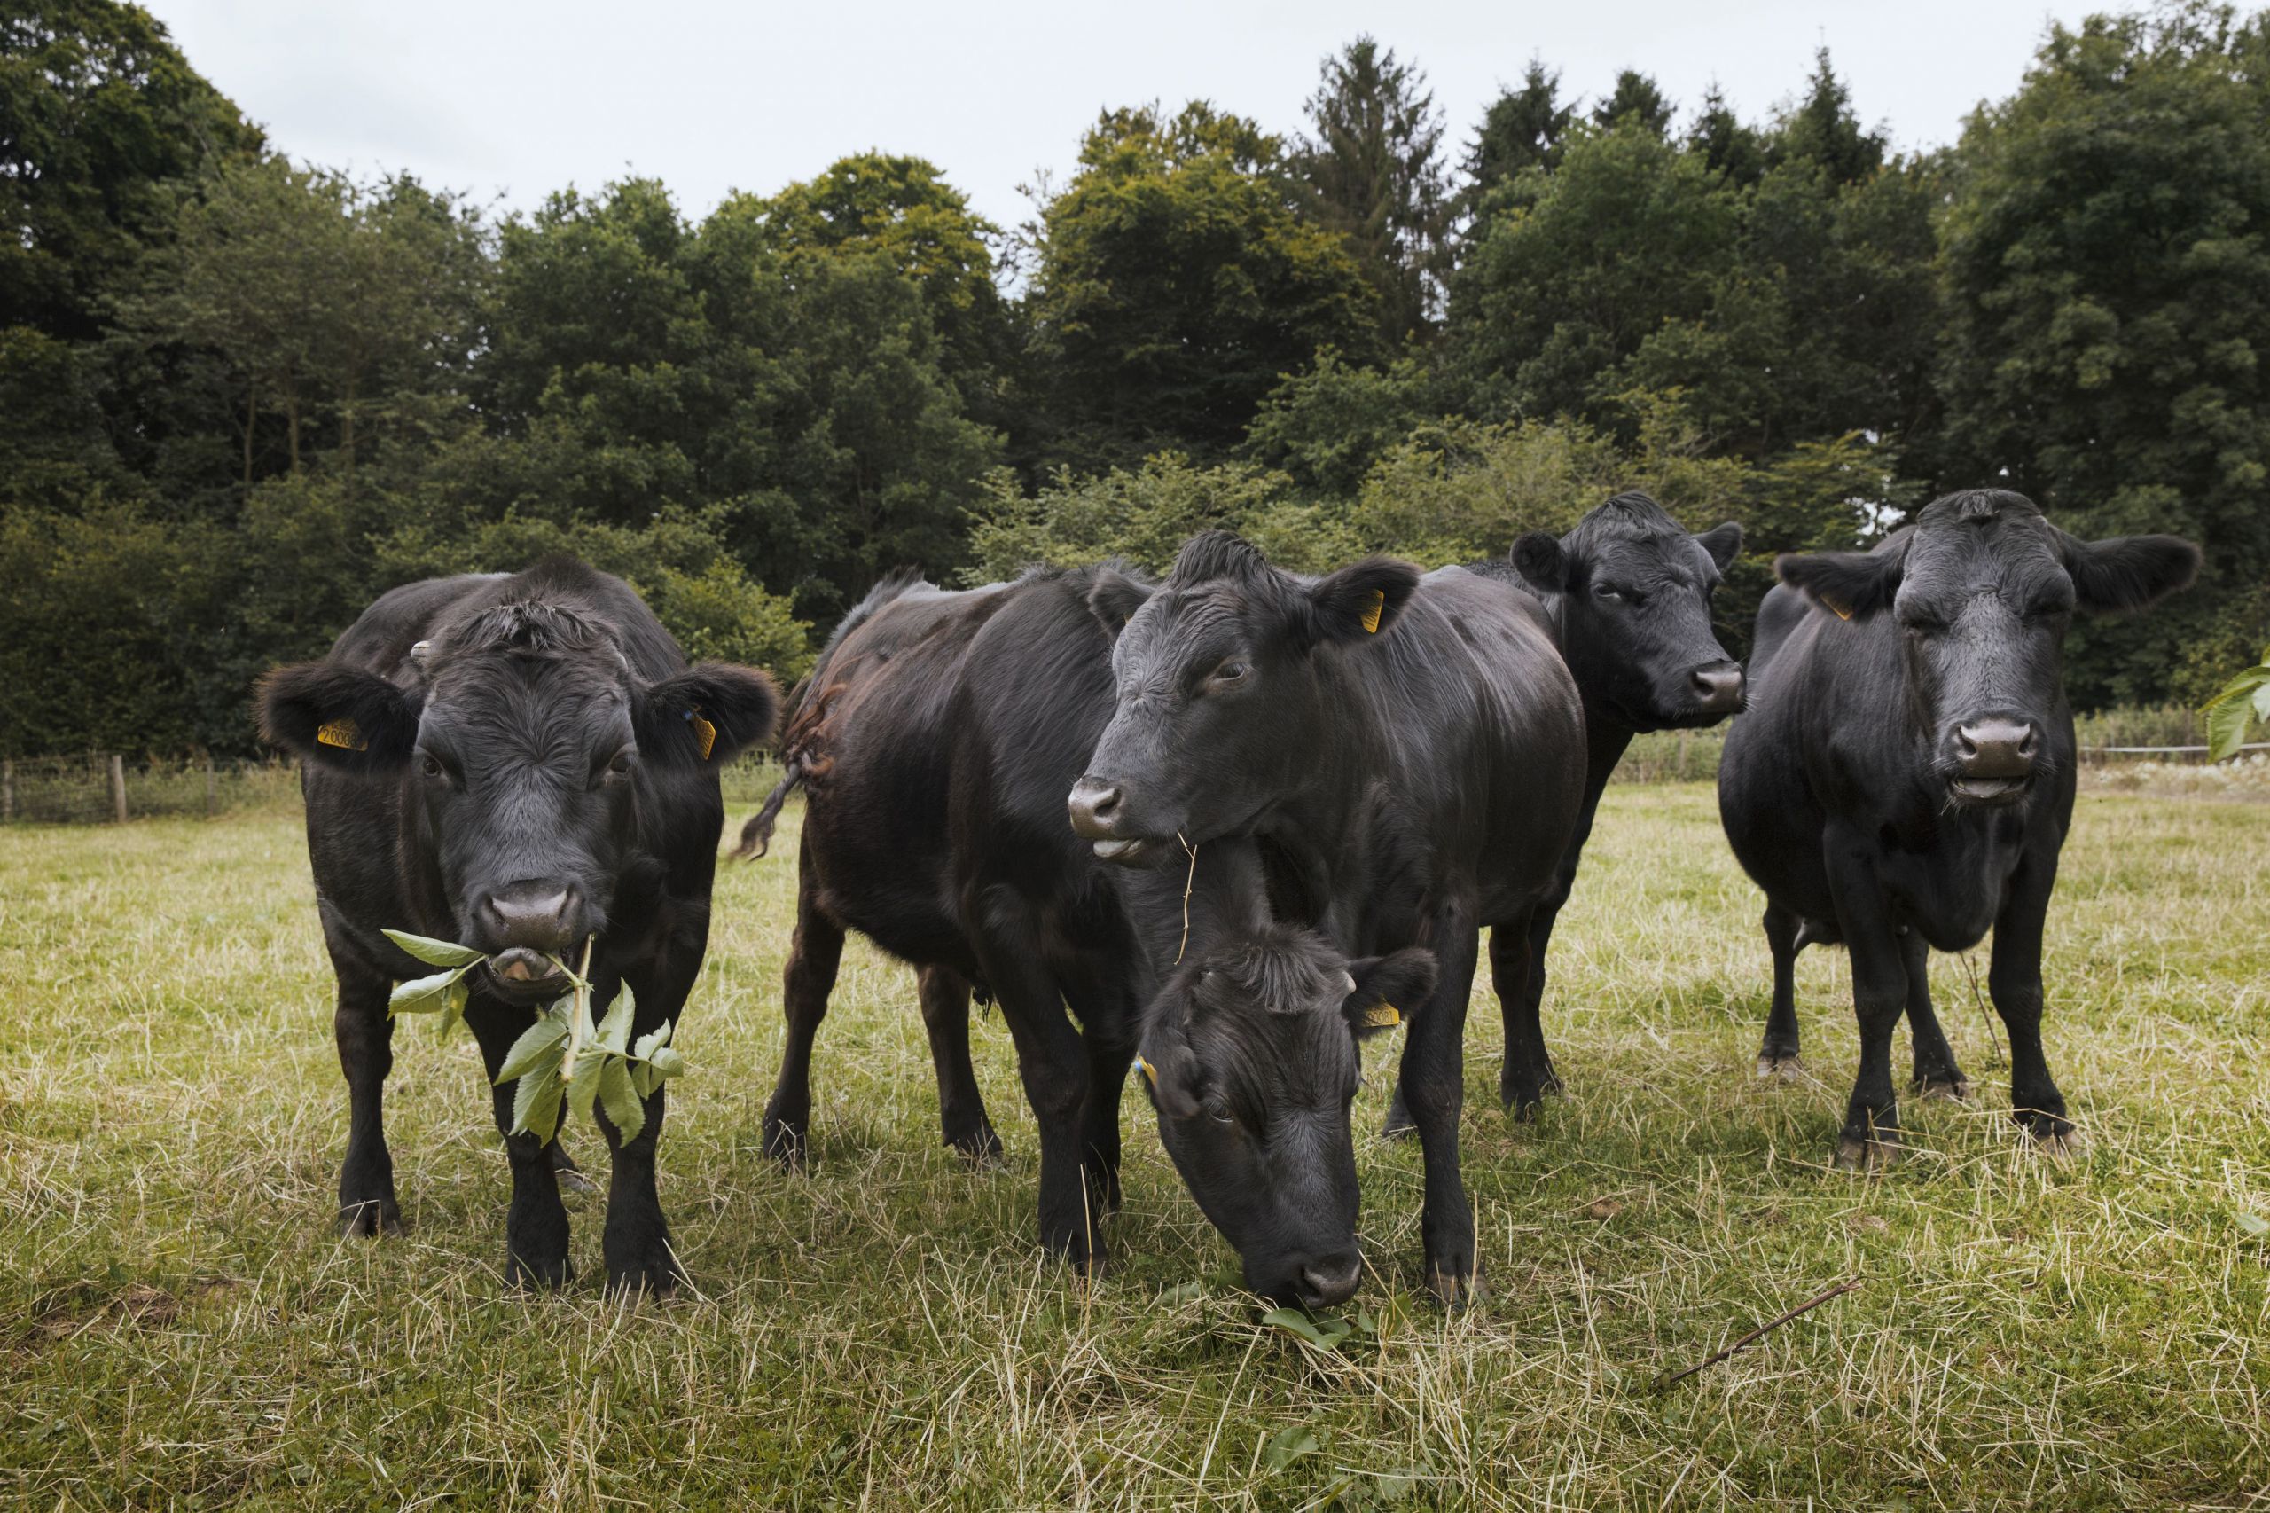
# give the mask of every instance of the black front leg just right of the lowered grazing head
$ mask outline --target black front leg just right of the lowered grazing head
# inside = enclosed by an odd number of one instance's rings
[[[1457,1115],[1466,1100],[1466,1000],[1480,931],[1469,916],[1446,909],[1430,931],[1435,950],[1435,997],[1412,1018],[1403,1047],[1403,1102],[1419,1127],[1426,1156],[1426,1206],[1419,1231],[1426,1238],[1426,1281],[1455,1304],[1480,1295],[1473,1256],[1473,1209],[1457,1170]]]

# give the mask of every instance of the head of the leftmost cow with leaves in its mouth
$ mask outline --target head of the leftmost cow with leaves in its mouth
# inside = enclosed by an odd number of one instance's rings
[[[275,745],[402,784],[456,938],[495,956],[490,981],[513,1000],[556,995],[545,956],[606,929],[638,847],[640,795],[763,741],[776,704],[751,668],[638,679],[615,627],[565,597],[490,602],[445,622],[413,647],[402,682],[311,661],[277,668],[259,691]]]

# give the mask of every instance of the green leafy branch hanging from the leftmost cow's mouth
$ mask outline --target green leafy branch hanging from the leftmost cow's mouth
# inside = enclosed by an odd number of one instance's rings
[[[431,977],[418,977],[395,986],[386,1000],[388,1013],[440,1013],[440,1031],[449,1034],[465,1013],[472,990],[465,975],[488,961],[470,945],[434,941],[400,929],[384,931],[404,952],[443,968]],[[547,956],[552,966],[568,975],[568,993],[536,1015],[513,1050],[497,1068],[497,1086],[520,1081],[513,1088],[513,1134],[529,1134],[549,1143],[561,1127],[561,1106],[590,1118],[592,1109],[606,1109],[608,1122],[624,1140],[636,1140],[647,1127],[647,1097],[654,1088],[686,1070],[686,1056],[670,1045],[670,1020],[649,1029],[631,1043],[633,995],[631,984],[622,984],[606,1018],[597,1027],[590,1022],[590,941],[583,941],[581,968],[570,968],[558,956]]]

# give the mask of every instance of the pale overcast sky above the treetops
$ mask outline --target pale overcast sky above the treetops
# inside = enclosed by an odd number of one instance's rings
[[[1757,118],[1827,43],[1864,120],[1902,148],[1952,141],[2007,95],[2063,0],[1305,0],[1258,5],[774,5],[772,0],[145,0],[191,64],[302,161],[533,207],[552,189],[661,177],[695,216],[844,152],[928,157],[1010,225],[1096,111],[1203,98],[1301,127],[1317,61],[1373,32],[1426,68],[1464,143],[1530,55],[1564,93],[1641,68],[1689,109],[1716,80]],[[1721,11],[1721,14],[1712,14]]]

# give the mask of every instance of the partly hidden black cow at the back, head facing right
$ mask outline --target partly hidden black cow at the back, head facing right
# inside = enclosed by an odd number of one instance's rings
[[[1584,700],[1584,802],[1553,891],[1530,916],[1525,952],[1503,931],[1489,931],[1489,968],[1505,1013],[1498,1097],[1516,1118],[1559,1090],[1539,1020],[1546,945],[1623,750],[1639,732],[1700,729],[1741,709],[1741,666],[1709,627],[1718,572],[1739,550],[1741,527],[1732,520],[1691,536],[1648,495],[1619,493],[1566,536],[1530,532],[1514,543],[1510,561],[1466,568],[1544,595],[1553,643]],[[1387,1129],[1410,1129],[1401,1100]]]

